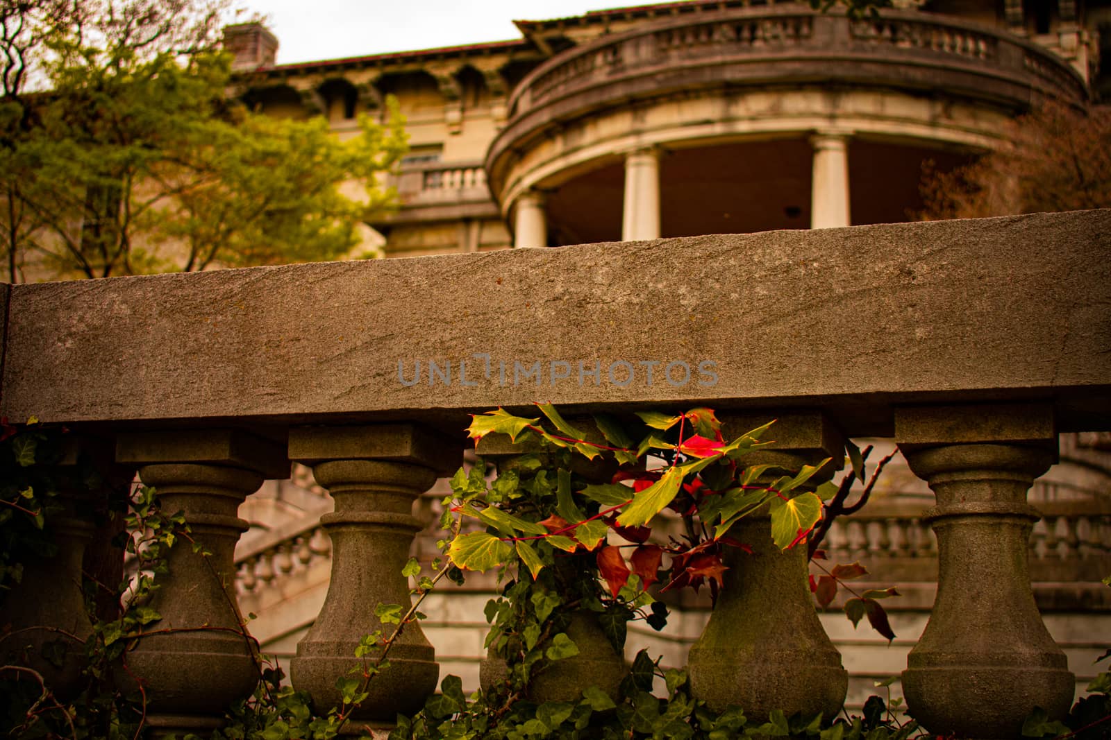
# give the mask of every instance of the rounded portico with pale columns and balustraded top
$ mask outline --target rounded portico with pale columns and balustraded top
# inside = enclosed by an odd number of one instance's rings
[[[721,10],[538,67],[486,168],[530,246],[538,223],[554,245],[902,221],[923,162],[999,145],[1044,95],[1087,93],[1065,61],[1005,31],[914,11]]]

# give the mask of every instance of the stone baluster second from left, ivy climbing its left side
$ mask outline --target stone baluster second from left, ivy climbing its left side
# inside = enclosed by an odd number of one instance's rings
[[[203,557],[181,539],[150,606],[162,619],[127,653],[128,671],[147,697],[147,721],[162,733],[203,733],[259,681],[253,643],[240,633],[234,549],[248,524],[239,505],[266,478],[289,477],[286,450],[238,429],[122,434],[117,460],[136,465],[158,489],[162,510],[182,511]],[[204,628],[204,629],[199,629]]]

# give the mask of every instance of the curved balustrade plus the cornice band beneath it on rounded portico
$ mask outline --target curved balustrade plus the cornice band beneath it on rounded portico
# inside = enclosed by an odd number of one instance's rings
[[[600,111],[677,94],[807,85],[927,92],[1012,111],[1045,97],[1088,98],[1080,74],[1052,52],[942,14],[884,10],[851,19],[804,3],[680,13],[604,34],[534,69],[513,89],[487,171],[500,192],[514,156]]]

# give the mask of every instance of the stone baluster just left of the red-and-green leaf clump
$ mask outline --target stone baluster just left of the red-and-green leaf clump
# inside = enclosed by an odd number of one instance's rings
[[[302,427],[290,430],[289,455],[312,466],[336,511],[320,518],[332,540],[332,574],[320,615],[290,661],[293,686],[312,696],[318,711],[341,702],[336,679],[361,668],[354,657],[363,635],[394,625],[374,616],[379,604],[411,605],[401,569],[420,523],[413,501],[438,475],[462,463],[462,445],[413,424]],[[371,656],[372,658],[372,656]],[[356,721],[392,723],[411,714],[436,690],[440,668],[418,622],[406,626],[390,649],[389,667],[374,676]]]

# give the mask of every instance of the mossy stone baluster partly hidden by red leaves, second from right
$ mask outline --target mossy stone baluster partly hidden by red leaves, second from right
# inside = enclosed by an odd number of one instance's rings
[[[787,470],[832,462],[810,480],[812,489],[843,465],[840,434],[820,413],[732,417],[724,419],[725,438],[772,418],[765,437],[775,445],[747,455],[745,466],[771,464],[758,479],[770,485]],[[749,515],[730,529],[730,537],[752,554],[728,548],[724,587],[702,636],[691,646],[688,670],[695,698],[710,709],[730,704],[744,709],[750,721],[767,721],[774,709],[832,717],[844,703],[849,675],[841,655],[822,629],[807,581],[807,547],[781,551],[771,540],[767,509]]]

